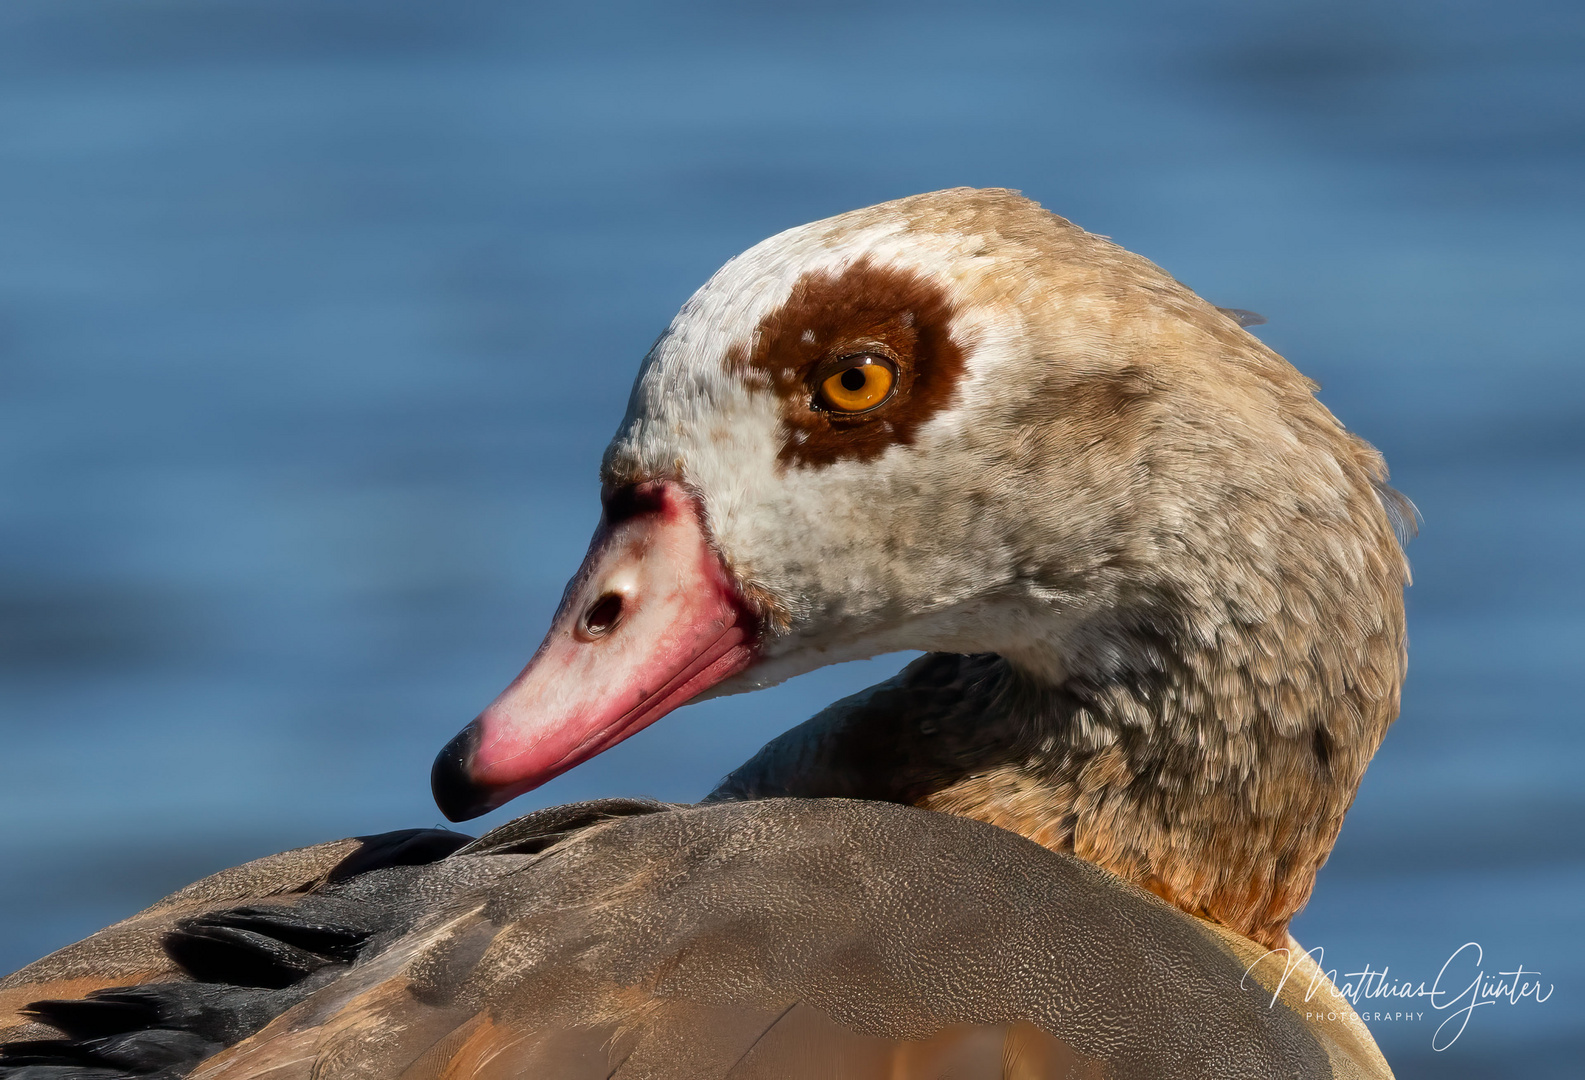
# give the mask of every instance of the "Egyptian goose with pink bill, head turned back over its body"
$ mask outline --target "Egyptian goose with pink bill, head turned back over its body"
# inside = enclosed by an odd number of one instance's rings
[[[190,885],[0,982],[0,1077],[1388,1077],[1266,953],[1398,710],[1406,504],[1239,314],[1008,190],[732,259],[436,798],[927,655],[697,806]]]

